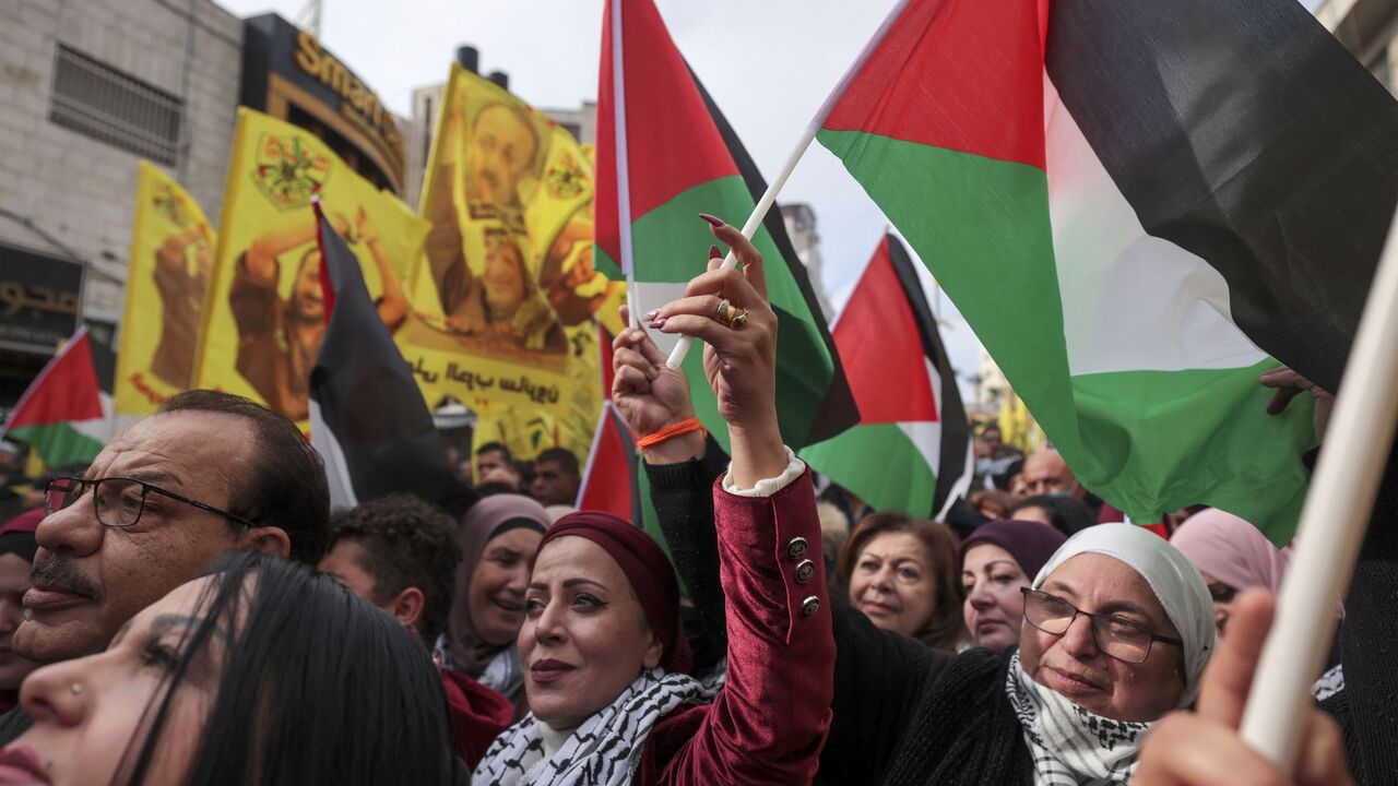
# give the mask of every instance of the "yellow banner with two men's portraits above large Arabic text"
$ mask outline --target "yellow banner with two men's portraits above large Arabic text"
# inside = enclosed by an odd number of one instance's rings
[[[528,424],[506,435],[523,456],[586,450],[596,422],[593,320],[622,287],[593,270],[591,201],[593,164],[566,129],[453,66],[419,210],[432,231],[397,340],[429,403]]]

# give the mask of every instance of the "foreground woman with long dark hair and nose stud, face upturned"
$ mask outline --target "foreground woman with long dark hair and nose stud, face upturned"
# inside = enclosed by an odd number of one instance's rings
[[[0,783],[452,783],[446,698],[390,615],[322,573],[228,552],[106,652],[25,681]]]

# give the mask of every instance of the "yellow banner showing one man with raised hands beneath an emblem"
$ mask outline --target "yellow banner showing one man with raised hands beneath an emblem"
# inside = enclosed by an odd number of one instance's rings
[[[247,396],[308,427],[310,369],[326,334],[312,197],[363,267],[390,330],[428,224],[305,129],[238,110],[196,383]]]

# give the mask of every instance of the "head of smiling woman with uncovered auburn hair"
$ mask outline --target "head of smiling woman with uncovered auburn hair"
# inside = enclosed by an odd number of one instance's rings
[[[850,606],[874,625],[955,650],[967,641],[958,545],[946,524],[902,512],[874,513],[846,541],[835,575]]]

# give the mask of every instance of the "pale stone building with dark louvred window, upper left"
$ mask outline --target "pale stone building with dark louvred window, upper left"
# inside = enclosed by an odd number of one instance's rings
[[[0,4],[0,291],[27,305],[0,309],[0,404],[80,317],[120,320],[140,159],[218,214],[242,41],[211,0]]]

